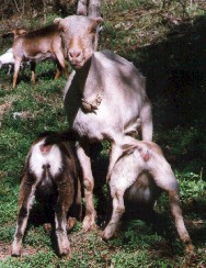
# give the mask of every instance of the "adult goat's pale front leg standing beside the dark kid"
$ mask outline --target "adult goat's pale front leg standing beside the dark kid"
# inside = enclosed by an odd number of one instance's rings
[[[88,231],[95,227],[96,212],[93,202],[94,179],[92,175],[90,146],[80,144],[77,147],[77,155],[82,168],[84,197],[85,197],[85,216],[83,219],[83,230]]]

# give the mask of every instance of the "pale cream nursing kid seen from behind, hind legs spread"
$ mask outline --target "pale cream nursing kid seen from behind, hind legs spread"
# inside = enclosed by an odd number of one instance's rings
[[[138,205],[142,206],[142,204],[146,208],[153,208],[160,190],[163,190],[168,192],[179,236],[185,244],[186,252],[193,253],[193,245],[182,216],[178,181],[171,166],[157,144],[138,141],[136,141],[136,148],[125,152],[125,155],[118,159],[113,168],[108,182],[113,200],[113,212],[107,226],[103,231],[103,238],[111,238],[116,231],[119,219],[125,212],[125,198],[136,203],[137,208]],[[142,156],[141,150],[145,150],[146,147],[147,154]]]

